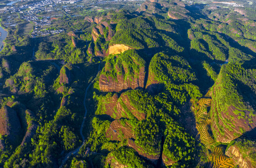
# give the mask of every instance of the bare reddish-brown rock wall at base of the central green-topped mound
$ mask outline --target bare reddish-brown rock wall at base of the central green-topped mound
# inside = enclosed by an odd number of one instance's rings
[[[106,65],[105,65],[106,67]],[[121,71],[121,70],[117,70]],[[125,73],[126,70],[125,70]],[[100,75],[100,91],[123,91],[126,89],[136,89],[136,88],[143,88],[144,87],[144,78],[145,78],[145,68],[141,67],[139,70],[138,77],[130,77],[129,79],[124,79],[124,76],[118,74],[117,72],[117,79],[113,79],[112,77],[107,77],[104,74]]]

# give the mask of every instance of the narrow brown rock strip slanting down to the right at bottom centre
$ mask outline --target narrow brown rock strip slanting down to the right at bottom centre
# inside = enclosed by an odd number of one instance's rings
[[[147,159],[150,160],[150,161],[155,162],[155,161],[157,161],[157,160],[160,158],[160,154],[157,154],[156,156],[151,155],[151,154],[148,154],[147,151],[144,151],[141,147],[137,146],[137,145],[135,144],[135,141],[132,140],[132,139],[128,139],[127,145],[128,145],[129,147],[134,148],[135,151],[136,151],[139,155],[141,155],[141,156],[147,158]]]

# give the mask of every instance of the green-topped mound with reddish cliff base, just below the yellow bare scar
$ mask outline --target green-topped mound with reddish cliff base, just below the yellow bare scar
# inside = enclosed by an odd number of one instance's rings
[[[101,91],[119,92],[144,87],[146,63],[134,50],[114,57],[114,64],[111,63],[112,58],[109,59],[100,75]]]

